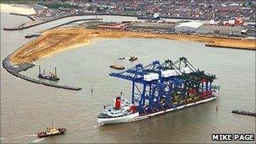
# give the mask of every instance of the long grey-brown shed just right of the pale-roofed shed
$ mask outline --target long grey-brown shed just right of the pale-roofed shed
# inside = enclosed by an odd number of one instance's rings
[[[242,27],[230,27],[230,26],[212,26],[212,25],[202,25],[198,29],[198,32],[203,35],[234,35],[241,36]]]

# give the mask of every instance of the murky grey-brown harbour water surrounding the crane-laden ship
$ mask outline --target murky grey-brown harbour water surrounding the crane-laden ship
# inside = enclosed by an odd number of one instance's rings
[[[108,16],[105,20],[116,18]],[[1,13],[1,61],[29,41],[24,35],[58,24],[3,31],[5,26],[26,20],[29,19]],[[131,55],[138,56],[138,61],[118,59]],[[174,61],[179,56],[186,56],[195,67],[216,74],[221,92],[215,101],[127,124],[97,124],[96,116],[104,104],[111,103],[121,91],[127,99],[131,94],[131,82],[109,77],[113,71],[109,69],[110,64],[133,67],[139,62],[146,65],[154,60]],[[13,77],[1,66],[1,142],[205,143],[212,142],[212,133],[255,133],[255,117],[231,113],[232,109],[255,111],[255,51],[211,48],[193,41],[96,39],[88,45],[42,58],[35,64],[51,71],[56,65],[61,77],[58,83],[83,90],[68,91],[29,83]],[[22,73],[36,77],[38,67]],[[36,132],[44,131],[51,121],[58,127],[66,127],[67,134],[37,139]]]

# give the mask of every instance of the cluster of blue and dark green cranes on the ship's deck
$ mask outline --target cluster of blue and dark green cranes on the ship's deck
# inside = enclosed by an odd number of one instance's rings
[[[141,115],[179,106],[194,96],[206,97],[211,94],[211,83],[216,79],[215,75],[196,69],[185,57],[162,64],[152,61],[146,67],[139,63],[109,75],[131,81],[131,104],[135,104]]]

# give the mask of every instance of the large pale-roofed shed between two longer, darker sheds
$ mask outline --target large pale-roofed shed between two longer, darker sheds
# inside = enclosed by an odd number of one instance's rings
[[[197,33],[198,28],[203,25],[200,22],[185,22],[177,25],[175,27],[175,32],[182,32],[182,33]]]

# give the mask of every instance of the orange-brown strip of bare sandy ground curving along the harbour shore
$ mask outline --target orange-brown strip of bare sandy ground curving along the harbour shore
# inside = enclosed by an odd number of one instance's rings
[[[99,31],[83,28],[51,29],[39,38],[21,47],[11,56],[13,64],[35,61],[40,57],[49,56],[58,51],[66,50],[74,45],[82,45],[93,38],[163,38],[169,40],[195,40],[206,45],[237,49],[256,50],[255,40],[216,38],[201,35],[157,35],[136,32]]]

